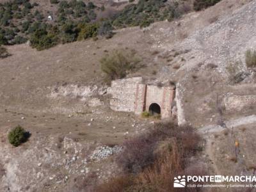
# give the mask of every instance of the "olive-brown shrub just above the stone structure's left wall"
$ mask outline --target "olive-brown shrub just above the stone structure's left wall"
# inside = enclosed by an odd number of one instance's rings
[[[139,67],[139,62],[135,52],[123,50],[114,50],[100,60],[101,70],[106,74],[107,81],[124,78],[128,72]]]

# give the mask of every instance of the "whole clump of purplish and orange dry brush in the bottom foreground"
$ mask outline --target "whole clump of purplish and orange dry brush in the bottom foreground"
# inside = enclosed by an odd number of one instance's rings
[[[124,151],[116,159],[122,174],[96,191],[174,191],[175,176],[205,174],[189,166],[191,157],[202,150],[200,141],[193,127],[156,124],[146,134],[124,143]]]

